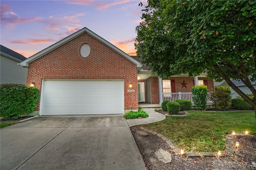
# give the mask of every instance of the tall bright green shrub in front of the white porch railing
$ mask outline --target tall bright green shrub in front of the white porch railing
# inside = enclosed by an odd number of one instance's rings
[[[192,100],[200,110],[206,110],[208,88],[205,85],[196,85],[192,87]]]

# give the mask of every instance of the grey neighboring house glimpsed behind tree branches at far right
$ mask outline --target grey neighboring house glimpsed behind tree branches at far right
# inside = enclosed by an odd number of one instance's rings
[[[242,82],[237,80],[231,80],[244,94],[252,94],[251,90]],[[253,87],[256,89],[256,81],[252,82]],[[224,81],[220,86],[228,86],[228,83]],[[240,97],[237,92],[230,87],[231,90],[231,98]]]

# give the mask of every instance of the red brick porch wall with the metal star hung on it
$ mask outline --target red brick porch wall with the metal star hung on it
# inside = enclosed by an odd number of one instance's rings
[[[194,86],[194,77],[170,77],[170,80],[175,80],[176,92],[192,92],[192,87]],[[182,88],[181,83],[183,83],[183,80],[187,84],[186,87]],[[212,91],[212,89],[214,89],[213,80],[208,80],[208,78],[206,77],[198,77],[198,80],[207,80],[209,92]]]

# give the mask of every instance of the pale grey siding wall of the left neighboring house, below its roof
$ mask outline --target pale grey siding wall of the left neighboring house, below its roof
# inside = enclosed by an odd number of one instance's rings
[[[0,83],[26,84],[28,69],[17,65],[18,62],[1,56],[0,58]]]

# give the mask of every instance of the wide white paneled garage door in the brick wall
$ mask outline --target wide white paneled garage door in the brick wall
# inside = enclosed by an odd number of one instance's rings
[[[123,114],[123,80],[44,80],[41,115]]]

